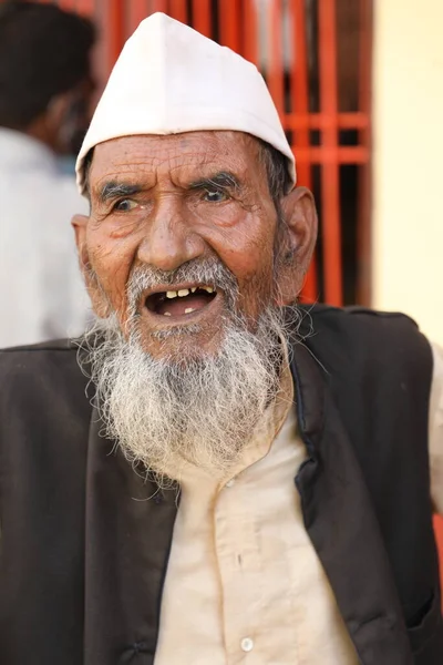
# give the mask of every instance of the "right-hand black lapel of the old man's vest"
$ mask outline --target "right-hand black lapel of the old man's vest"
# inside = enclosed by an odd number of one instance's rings
[[[328,377],[303,344],[292,349],[298,424],[308,459],[296,485],[307,532],[363,665],[410,665],[392,571]]]

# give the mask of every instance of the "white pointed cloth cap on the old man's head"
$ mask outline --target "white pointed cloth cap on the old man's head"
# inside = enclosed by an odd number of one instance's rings
[[[154,13],[127,40],[97,104],[76,160],[80,193],[84,157],[97,143],[198,130],[262,139],[288,157],[296,183],[291,149],[257,68],[188,25]]]

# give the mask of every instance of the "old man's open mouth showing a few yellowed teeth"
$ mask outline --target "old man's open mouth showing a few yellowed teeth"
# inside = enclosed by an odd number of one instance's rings
[[[217,291],[213,286],[196,285],[151,294],[145,305],[150,311],[159,316],[189,316],[207,307],[216,296]]]

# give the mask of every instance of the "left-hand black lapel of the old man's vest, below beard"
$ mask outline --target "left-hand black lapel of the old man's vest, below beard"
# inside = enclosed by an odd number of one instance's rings
[[[152,665],[177,491],[161,492],[100,436],[86,470],[84,665]]]

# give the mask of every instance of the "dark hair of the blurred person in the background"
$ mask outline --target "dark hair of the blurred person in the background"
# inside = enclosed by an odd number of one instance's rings
[[[25,130],[91,71],[93,23],[54,4],[0,7],[0,125]]]

